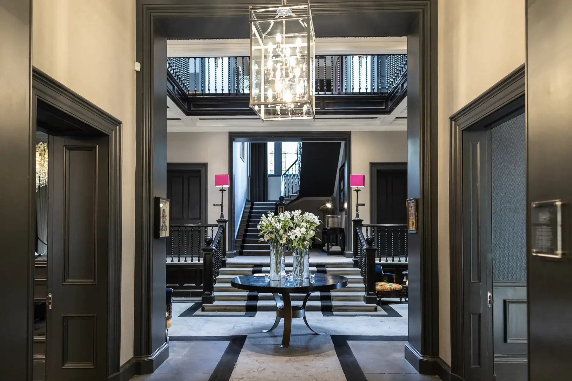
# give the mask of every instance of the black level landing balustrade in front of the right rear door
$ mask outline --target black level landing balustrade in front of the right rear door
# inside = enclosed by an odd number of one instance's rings
[[[374,237],[378,262],[407,263],[407,224],[363,224],[366,236]]]

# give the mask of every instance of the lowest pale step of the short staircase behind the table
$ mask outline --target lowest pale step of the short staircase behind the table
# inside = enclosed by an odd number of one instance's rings
[[[215,296],[216,298],[216,296]],[[300,305],[301,303],[294,303]],[[213,304],[202,304],[205,312],[244,312],[247,302],[242,301],[215,301]],[[362,302],[331,302],[333,312],[375,312],[376,304],[366,304]],[[329,308],[329,307],[328,307]],[[323,306],[318,300],[309,300],[306,304],[306,311],[322,311]],[[276,311],[274,300],[259,300],[256,304],[257,311]]]

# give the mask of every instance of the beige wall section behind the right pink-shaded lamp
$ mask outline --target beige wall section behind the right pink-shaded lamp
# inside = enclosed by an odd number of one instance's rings
[[[366,186],[359,192],[360,218],[370,223],[370,163],[407,163],[407,131],[352,131],[351,174],[366,175]],[[348,200],[350,216],[355,216],[355,192]]]

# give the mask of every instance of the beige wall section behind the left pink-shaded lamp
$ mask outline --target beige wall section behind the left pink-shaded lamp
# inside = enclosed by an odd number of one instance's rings
[[[207,163],[208,223],[220,217],[220,191],[215,187],[215,175],[228,171],[228,133],[167,133],[168,163]],[[224,194],[224,216],[228,214],[228,192]]]

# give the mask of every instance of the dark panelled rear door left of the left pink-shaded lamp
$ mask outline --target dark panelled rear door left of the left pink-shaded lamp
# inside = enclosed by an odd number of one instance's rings
[[[199,169],[168,170],[167,198],[171,200],[171,225],[204,223],[202,176]]]

